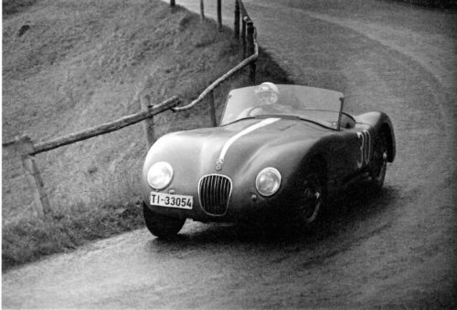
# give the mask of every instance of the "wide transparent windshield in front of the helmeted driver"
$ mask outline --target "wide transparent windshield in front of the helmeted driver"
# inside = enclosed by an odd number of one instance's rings
[[[343,94],[308,86],[262,83],[228,93],[220,124],[262,115],[288,115],[339,129]]]

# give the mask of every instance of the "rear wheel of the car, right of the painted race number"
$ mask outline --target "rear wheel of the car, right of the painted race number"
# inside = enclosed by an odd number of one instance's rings
[[[373,149],[373,159],[369,169],[369,187],[379,192],[384,185],[388,169],[388,139],[386,134],[377,135]]]

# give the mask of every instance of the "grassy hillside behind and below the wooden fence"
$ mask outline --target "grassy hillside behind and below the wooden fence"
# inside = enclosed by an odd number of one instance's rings
[[[3,17],[4,142],[20,134],[46,141],[112,121],[139,111],[144,93],[155,103],[173,95],[189,102],[239,61],[231,31],[158,0],[4,1]],[[285,80],[267,55],[259,67],[260,81]],[[245,76],[216,91],[219,114]],[[156,132],[208,126],[207,112],[205,103],[165,112]],[[49,223],[36,218],[17,160],[4,156],[4,269],[143,226],[136,202],[145,152],[137,124],[37,155],[55,216]]]

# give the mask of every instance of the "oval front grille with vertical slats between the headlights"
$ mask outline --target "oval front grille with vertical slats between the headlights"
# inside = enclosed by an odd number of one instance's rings
[[[200,206],[210,215],[224,215],[231,194],[231,180],[227,176],[207,175],[200,179]]]

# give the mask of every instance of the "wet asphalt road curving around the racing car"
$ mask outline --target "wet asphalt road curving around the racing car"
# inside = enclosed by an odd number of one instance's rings
[[[176,241],[137,230],[95,242],[3,274],[3,307],[457,306],[457,14],[245,2],[260,45],[293,80],[344,91],[349,111],[391,116],[398,157],[382,194],[352,190],[302,236],[188,222]]]

